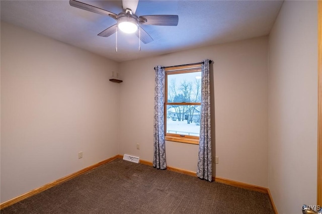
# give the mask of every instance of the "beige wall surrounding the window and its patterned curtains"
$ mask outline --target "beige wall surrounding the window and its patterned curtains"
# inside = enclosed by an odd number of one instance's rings
[[[214,61],[213,155],[219,157],[214,175],[267,187],[267,56],[268,38],[261,37],[121,63],[120,154],[153,159],[153,67],[209,58]],[[166,142],[166,155],[168,165],[196,171],[197,145]]]

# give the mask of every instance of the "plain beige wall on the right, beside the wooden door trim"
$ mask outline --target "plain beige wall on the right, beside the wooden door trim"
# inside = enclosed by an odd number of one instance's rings
[[[269,188],[279,213],[300,213],[316,204],[316,1],[285,1],[269,41]]]

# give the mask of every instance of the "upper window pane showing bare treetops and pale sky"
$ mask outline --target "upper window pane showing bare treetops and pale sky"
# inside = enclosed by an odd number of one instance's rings
[[[168,102],[201,102],[201,72],[168,74]]]

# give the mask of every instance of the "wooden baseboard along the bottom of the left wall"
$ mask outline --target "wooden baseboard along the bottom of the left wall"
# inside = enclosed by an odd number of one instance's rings
[[[40,192],[42,192],[42,191],[44,191],[46,189],[49,189],[49,188],[51,188],[53,186],[56,186],[56,185],[58,185],[60,183],[63,183],[65,181],[67,181],[67,180],[70,180],[70,179],[72,179],[74,177],[77,177],[78,175],[84,174],[85,172],[88,172],[88,171],[90,171],[92,169],[95,169],[95,168],[97,168],[97,167],[99,167],[99,166],[101,166],[101,165],[103,165],[105,163],[108,163],[108,162],[110,162],[112,160],[115,160],[117,158],[120,158],[120,157],[123,157],[123,156],[116,155],[114,157],[108,158],[108,159],[106,159],[104,161],[101,161],[99,163],[93,164],[92,166],[86,167],[86,168],[84,168],[82,170],[74,172],[74,173],[72,173],[70,175],[67,175],[65,177],[59,178],[58,180],[55,180],[55,181],[50,182],[50,183],[47,183],[47,184],[45,184],[45,185],[43,185],[41,187],[38,187],[38,188],[33,189],[33,190],[29,191],[29,192],[26,192],[26,193],[24,193],[22,195],[19,195],[19,196],[14,197],[14,198],[12,198],[10,200],[7,200],[7,201],[5,201],[3,203],[0,203],[0,209],[3,209],[3,208],[5,208],[7,206],[10,206],[10,205],[13,205],[14,203],[17,203],[17,202],[19,202],[19,201],[21,201],[23,199],[26,199],[28,197],[31,197],[31,196],[35,195],[35,194],[38,194],[38,193],[40,193]]]

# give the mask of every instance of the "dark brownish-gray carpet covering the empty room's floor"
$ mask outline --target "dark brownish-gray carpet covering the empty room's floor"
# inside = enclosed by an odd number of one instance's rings
[[[121,159],[1,213],[274,213],[265,193]]]

